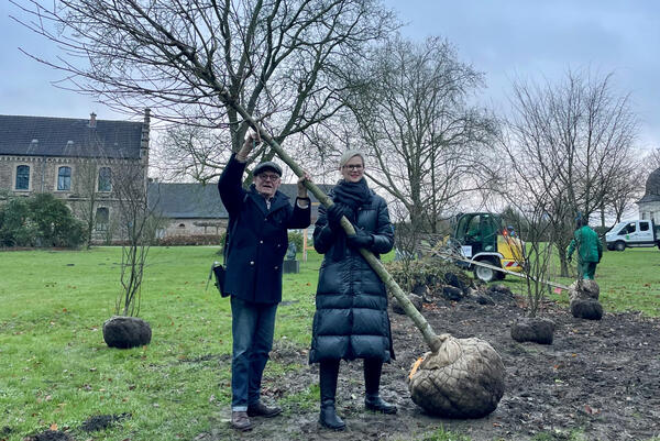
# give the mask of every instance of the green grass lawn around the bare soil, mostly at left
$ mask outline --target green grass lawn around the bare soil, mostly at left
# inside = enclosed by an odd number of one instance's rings
[[[120,290],[120,249],[0,252],[0,440],[125,412],[121,425],[76,438],[190,440],[210,431],[230,401],[229,300],[212,285],[205,290],[216,251],[151,250],[140,317],[152,326],[152,344],[132,350],[109,349],[102,338]],[[276,344],[308,348],[320,262],[311,252],[299,274],[285,275]],[[657,249],[605,253],[596,280],[607,311],[660,316]],[[273,362],[267,375],[287,368]],[[285,399],[311,406],[318,387]]]

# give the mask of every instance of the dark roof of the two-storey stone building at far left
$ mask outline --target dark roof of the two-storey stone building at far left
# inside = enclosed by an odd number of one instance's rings
[[[96,120],[96,119],[95,119]],[[0,155],[140,158],[142,122],[0,115]]]

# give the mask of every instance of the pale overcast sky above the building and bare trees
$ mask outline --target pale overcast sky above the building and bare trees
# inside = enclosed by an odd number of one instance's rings
[[[25,3],[28,2],[26,0]],[[641,121],[640,146],[660,146],[660,2],[656,0],[385,0],[415,40],[442,36],[461,60],[486,77],[482,97],[506,106],[512,79],[557,81],[571,69],[614,73],[614,86],[631,93]],[[100,119],[123,115],[52,82],[62,74],[19,52],[52,56],[55,48],[12,21],[24,16],[0,0],[0,114]]]

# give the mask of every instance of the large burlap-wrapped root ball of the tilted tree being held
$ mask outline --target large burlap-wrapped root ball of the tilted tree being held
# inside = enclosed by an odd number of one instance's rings
[[[480,339],[439,337],[437,353],[418,360],[408,376],[413,401],[444,418],[481,418],[497,408],[504,395],[504,363]]]

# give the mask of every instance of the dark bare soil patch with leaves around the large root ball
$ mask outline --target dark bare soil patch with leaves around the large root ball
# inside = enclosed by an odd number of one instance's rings
[[[229,409],[209,433],[197,440],[420,440],[442,427],[473,441],[648,440],[660,436],[660,321],[637,313],[605,313],[600,321],[575,319],[568,306],[544,305],[542,317],[557,324],[551,345],[517,343],[513,322],[525,310],[513,297],[494,305],[475,300],[426,304],[424,315],[438,333],[477,337],[491,343],[506,366],[506,392],[497,409],[475,420],[439,419],[424,414],[411,400],[406,376],[411,363],[428,351],[406,316],[391,313],[397,360],[384,367],[381,393],[396,403],[398,414],[364,409],[362,362],[342,363],[338,412],[346,430],[333,432],[317,422],[318,405],[285,407],[282,416],[255,419],[255,428],[237,433],[229,428]],[[300,365],[284,379],[267,379],[266,400],[318,384],[317,366],[290,349],[273,357]]]

